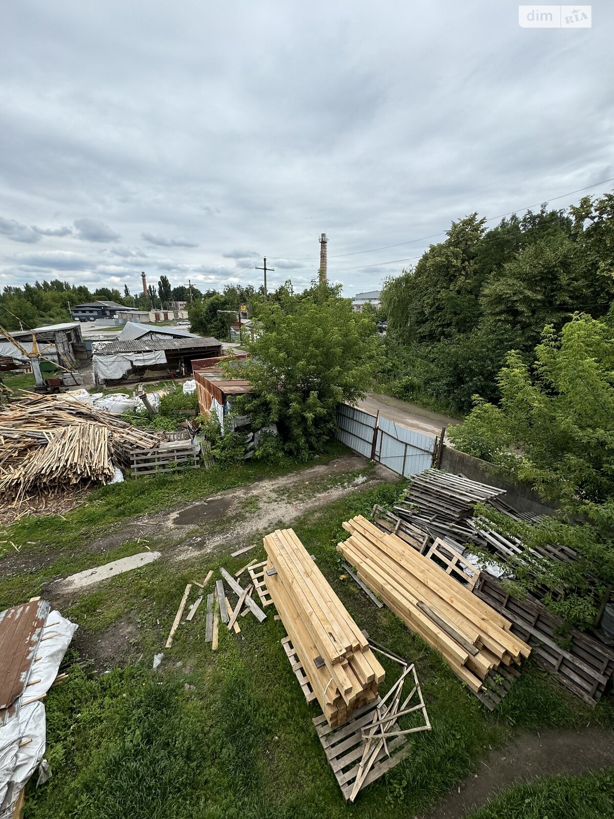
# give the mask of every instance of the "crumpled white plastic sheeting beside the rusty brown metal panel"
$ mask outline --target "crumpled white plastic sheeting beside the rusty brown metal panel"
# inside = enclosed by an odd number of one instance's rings
[[[58,611],[49,614],[43,640],[38,645],[39,659],[30,669],[32,681],[27,694],[21,697],[27,704],[20,704],[15,719],[0,728],[0,819],[11,817],[21,789],[45,753],[45,707],[39,699],[28,700],[47,694],[76,629],[76,623],[63,618]]]

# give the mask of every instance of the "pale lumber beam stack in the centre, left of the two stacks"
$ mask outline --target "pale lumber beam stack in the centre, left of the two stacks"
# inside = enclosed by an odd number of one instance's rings
[[[377,699],[384,669],[291,529],[264,538],[269,595],[331,726]]]

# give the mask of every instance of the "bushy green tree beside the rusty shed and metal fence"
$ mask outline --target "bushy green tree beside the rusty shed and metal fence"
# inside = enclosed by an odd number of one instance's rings
[[[339,402],[371,386],[380,342],[372,319],[352,312],[348,299],[294,296],[290,306],[260,311],[261,332],[240,367],[253,394],[237,408],[257,429],[277,423],[284,450],[306,459],[335,436]]]

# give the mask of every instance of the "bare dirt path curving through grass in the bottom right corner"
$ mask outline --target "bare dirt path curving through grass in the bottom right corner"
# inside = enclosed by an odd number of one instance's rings
[[[581,774],[614,765],[612,732],[600,728],[577,731],[525,731],[517,740],[480,762],[467,779],[423,819],[462,819],[516,781],[536,776]]]

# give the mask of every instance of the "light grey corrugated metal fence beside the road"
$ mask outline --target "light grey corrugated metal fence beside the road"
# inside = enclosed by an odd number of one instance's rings
[[[350,450],[408,477],[431,467],[436,437],[422,435],[349,404],[337,409],[337,438]]]

